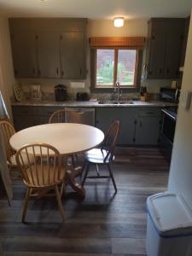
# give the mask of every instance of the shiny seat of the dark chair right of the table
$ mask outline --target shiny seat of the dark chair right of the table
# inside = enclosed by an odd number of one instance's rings
[[[94,164],[108,164],[110,162],[109,158],[105,160],[108,151],[101,148],[93,148],[86,152],[85,159]]]

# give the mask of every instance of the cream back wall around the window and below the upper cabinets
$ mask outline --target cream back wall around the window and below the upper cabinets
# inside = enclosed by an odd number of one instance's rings
[[[147,36],[148,24],[146,19],[143,20],[125,20],[125,26],[121,28],[116,28],[113,26],[112,20],[89,20],[87,26],[88,38],[102,36]],[[42,91],[46,93],[54,93],[54,86],[56,84],[66,84],[69,92],[73,95],[77,91],[90,91],[90,49],[89,43],[87,47],[87,79],[85,82],[84,89],[72,89],[70,87],[70,80],[64,79],[18,79],[18,82],[23,85],[25,91],[30,91],[30,84],[41,84]],[[150,80],[146,81],[143,85],[148,87],[148,90],[151,92],[158,92],[160,86],[170,86],[170,80]]]

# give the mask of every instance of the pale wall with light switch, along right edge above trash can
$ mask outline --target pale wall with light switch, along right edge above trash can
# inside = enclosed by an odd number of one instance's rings
[[[192,106],[182,108],[183,95],[192,91],[192,19],[185,57],[181,101],[178,108],[177,127],[172,151],[171,173],[168,189],[181,193],[192,207]]]

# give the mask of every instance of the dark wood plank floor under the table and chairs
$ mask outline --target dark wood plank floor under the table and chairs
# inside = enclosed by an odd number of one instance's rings
[[[73,193],[62,199],[65,224],[53,198],[30,201],[21,224],[26,187],[15,182],[12,206],[0,200],[3,255],[146,255],[146,198],[166,190],[166,160],[157,148],[119,150],[113,173],[117,195],[111,181],[89,180],[84,200]]]

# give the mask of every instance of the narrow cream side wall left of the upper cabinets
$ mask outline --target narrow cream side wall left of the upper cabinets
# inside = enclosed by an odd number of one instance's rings
[[[8,19],[0,17],[0,90],[3,99],[11,114],[10,96],[13,96],[13,85],[15,84]]]

